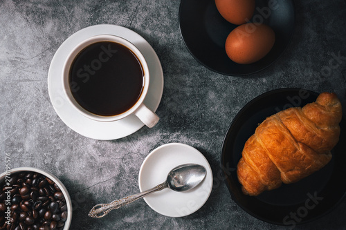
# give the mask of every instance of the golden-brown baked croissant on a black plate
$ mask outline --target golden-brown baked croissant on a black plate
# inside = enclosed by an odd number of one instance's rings
[[[342,108],[334,93],[267,117],[246,141],[237,176],[242,191],[259,195],[297,182],[325,166],[338,143]]]

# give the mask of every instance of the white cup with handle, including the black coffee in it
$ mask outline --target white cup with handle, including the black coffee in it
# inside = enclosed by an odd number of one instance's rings
[[[113,122],[136,115],[152,128],[159,117],[145,106],[149,89],[145,57],[131,42],[97,35],[76,46],[64,63],[64,93],[82,115]]]

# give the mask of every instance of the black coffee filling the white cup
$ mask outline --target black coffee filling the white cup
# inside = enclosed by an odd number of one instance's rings
[[[138,101],[144,82],[140,61],[129,48],[100,41],[84,48],[74,59],[69,84],[75,100],[86,111],[119,115]]]

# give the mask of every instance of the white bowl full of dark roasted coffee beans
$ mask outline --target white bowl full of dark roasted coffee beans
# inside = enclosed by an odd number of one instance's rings
[[[55,175],[31,167],[0,174],[0,230],[67,230],[71,218],[69,192]]]

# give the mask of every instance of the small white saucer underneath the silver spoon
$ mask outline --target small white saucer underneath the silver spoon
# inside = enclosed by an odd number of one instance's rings
[[[212,170],[206,157],[187,144],[164,144],[147,155],[138,176],[140,191],[165,182],[167,174],[174,167],[188,163],[205,166],[206,178],[190,191],[176,192],[163,189],[147,195],[144,200],[154,211],[170,217],[182,217],[200,209],[212,191]]]

